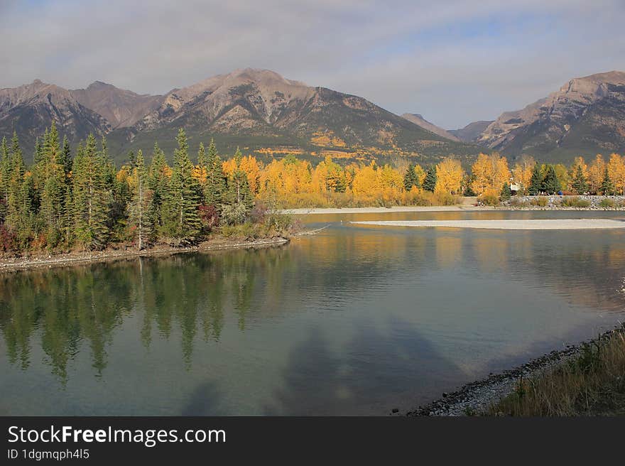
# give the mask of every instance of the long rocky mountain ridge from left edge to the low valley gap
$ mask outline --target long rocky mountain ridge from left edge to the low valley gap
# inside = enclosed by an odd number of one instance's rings
[[[217,75],[167,94],[140,95],[104,82],[65,90],[36,81],[0,91],[0,136],[18,131],[26,153],[54,119],[72,141],[89,132],[107,135],[123,160],[129,150],[150,151],[154,141],[171,152],[185,128],[192,150],[214,137],[222,153],[240,146],[267,158],[296,153],[313,160],[344,161],[403,156],[430,163],[479,152],[441,129],[424,128],[355,95],[310,87],[269,70],[246,68]]]

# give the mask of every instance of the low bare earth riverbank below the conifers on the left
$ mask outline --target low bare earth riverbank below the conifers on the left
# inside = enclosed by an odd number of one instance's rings
[[[224,249],[253,249],[260,247],[279,246],[286,244],[290,240],[286,237],[273,237],[266,239],[254,239],[252,241],[241,241],[240,239],[230,239],[226,237],[215,237],[210,241],[202,242],[197,246],[173,247],[166,245],[153,246],[149,249],[138,251],[130,246],[119,247],[118,249],[104,249],[104,251],[71,251],[60,254],[31,253],[28,256],[0,258],[0,273],[35,269],[40,267],[60,267],[72,264],[88,264],[95,262],[108,262],[121,259],[131,259],[144,256],[163,256],[170,254],[181,254],[185,252],[209,252],[221,251]]]

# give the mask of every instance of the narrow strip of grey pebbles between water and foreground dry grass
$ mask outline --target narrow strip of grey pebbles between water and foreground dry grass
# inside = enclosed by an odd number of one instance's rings
[[[529,360],[525,364],[462,385],[456,391],[442,393],[438,399],[407,411],[404,416],[484,416],[486,410],[505,396],[511,394],[520,379],[536,376],[580,355],[584,345],[607,340],[611,335],[625,329],[616,325],[598,337],[566,345],[564,350],[553,350]]]

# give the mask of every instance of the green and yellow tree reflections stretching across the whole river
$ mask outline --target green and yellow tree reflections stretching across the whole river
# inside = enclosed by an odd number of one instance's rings
[[[462,268],[550,286],[575,303],[621,300],[625,249],[614,233],[501,234],[426,229],[349,229],[297,239],[290,246],[219,254],[178,254],[67,269],[0,275],[0,331],[7,358],[31,362],[33,335],[60,380],[85,345],[101,375],[116,327],[139,320],[147,348],[180,338],[185,364],[194,342],[219,341],[229,313],[249,320],[293,312],[303,303],[388,287],[403,277]],[[180,335],[180,336],[178,336]],[[271,345],[271,342],[268,342]]]

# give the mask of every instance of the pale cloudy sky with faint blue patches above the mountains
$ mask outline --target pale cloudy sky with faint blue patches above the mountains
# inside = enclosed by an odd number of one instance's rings
[[[624,0],[0,0],[0,21],[0,88],[163,94],[255,67],[445,129],[625,71]]]

